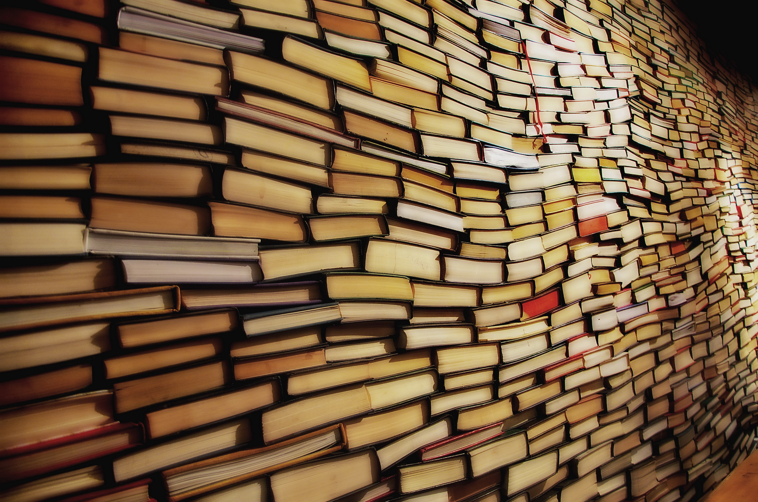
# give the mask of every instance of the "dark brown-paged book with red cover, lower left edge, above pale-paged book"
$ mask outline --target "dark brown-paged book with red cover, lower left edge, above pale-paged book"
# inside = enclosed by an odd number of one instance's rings
[[[142,425],[114,422],[0,453],[0,482],[16,481],[142,444]]]

